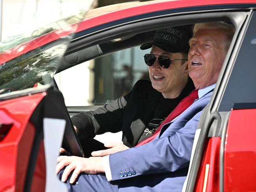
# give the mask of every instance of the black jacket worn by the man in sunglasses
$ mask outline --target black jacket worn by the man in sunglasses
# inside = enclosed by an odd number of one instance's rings
[[[180,100],[194,89],[191,79],[180,94]],[[122,131],[122,141],[128,147],[134,147],[161,99],[162,94],[152,87],[150,81],[139,80],[133,89],[117,100],[86,113],[72,116],[71,120],[78,128],[80,140],[95,135]]]

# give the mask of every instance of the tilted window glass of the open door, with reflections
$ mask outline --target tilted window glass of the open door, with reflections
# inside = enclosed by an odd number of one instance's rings
[[[84,13],[0,44],[0,94],[50,83]]]

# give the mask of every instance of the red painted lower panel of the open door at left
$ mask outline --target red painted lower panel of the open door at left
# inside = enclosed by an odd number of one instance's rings
[[[45,92],[0,102],[2,126],[11,127],[0,140],[0,191],[23,191],[35,135],[30,116]],[[1,130],[1,129],[0,129]]]

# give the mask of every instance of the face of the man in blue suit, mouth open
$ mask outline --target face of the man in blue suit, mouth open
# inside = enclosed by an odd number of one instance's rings
[[[216,29],[199,29],[189,40],[189,76],[197,89],[217,82],[226,57],[226,34]]]

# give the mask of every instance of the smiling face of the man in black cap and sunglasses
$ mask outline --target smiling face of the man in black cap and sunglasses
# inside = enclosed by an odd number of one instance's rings
[[[157,46],[152,46],[150,54],[163,55],[173,59],[186,59],[181,53],[169,53]],[[158,56],[156,56],[158,57]],[[172,61],[169,68],[161,68],[158,59],[152,66],[148,66],[152,87],[163,94],[165,98],[176,98],[184,89],[188,80],[187,62]]]

